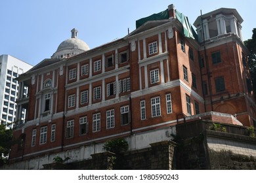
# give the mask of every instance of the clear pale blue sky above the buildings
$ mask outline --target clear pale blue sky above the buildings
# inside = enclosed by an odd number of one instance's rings
[[[255,0],[3,0],[0,5],[0,55],[10,54],[36,65],[51,58],[60,42],[69,39],[76,28],[78,38],[95,48],[135,30],[135,21],[165,10],[168,5],[188,16],[193,24],[202,13],[217,8],[236,8],[244,19],[244,41],[256,27]]]

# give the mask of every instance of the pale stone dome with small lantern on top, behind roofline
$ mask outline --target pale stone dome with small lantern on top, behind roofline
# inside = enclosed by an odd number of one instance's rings
[[[81,54],[82,52],[90,49],[86,42],[82,41],[81,39],[77,39],[78,31],[76,29],[72,29],[71,32],[72,37],[60,43],[56,52],[52,56],[53,59],[68,58],[70,56]]]

